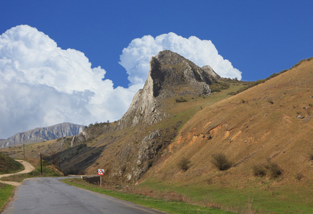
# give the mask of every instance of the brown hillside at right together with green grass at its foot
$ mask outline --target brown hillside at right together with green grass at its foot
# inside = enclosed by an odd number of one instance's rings
[[[220,203],[253,198],[257,208],[275,213],[313,212],[312,74],[313,61],[302,61],[206,106],[180,129],[141,185]],[[213,163],[220,154],[229,169]]]

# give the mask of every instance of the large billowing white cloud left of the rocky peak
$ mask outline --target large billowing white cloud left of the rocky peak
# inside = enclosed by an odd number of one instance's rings
[[[113,89],[105,74],[80,51],[60,49],[31,26],[9,29],[0,36],[0,137],[120,118],[140,86]]]

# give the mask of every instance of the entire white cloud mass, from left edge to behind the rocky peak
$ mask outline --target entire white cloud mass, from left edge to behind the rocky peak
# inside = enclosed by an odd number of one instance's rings
[[[105,79],[106,71],[92,67],[82,52],[59,48],[31,26],[9,29],[0,35],[0,138],[56,123],[88,125],[119,119],[143,87],[150,57],[163,49],[198,66],[208,64],[221,76],[241,78],[211,41],[170,33],[131,41],[120,56],[130,86],[113,88],[113,82]]]

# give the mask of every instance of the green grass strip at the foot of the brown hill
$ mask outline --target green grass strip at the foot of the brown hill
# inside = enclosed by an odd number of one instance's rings
[[[217,204],[234,208],[242,208],[247,204],[247,200],[252,200],[252,209],[265,213],[313,213],[312,184],[274,187],[272,182],[262,185],[255,183],[245,188],[229,188],[221,185],[163,183],[150,179],[140,184],[140,187],[175,191],[199,201],[210,198]]]

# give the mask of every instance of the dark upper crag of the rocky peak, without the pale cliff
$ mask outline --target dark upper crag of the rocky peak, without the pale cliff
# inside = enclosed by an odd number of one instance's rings
[[[212,68],[202,70],[172,51],[160,51],[150,61],[149,76],[153,79],[153,96],[168,97],[179,93],[210,95],[210,84],[216,81],[212,73],[215,73]],[[183,87],[190,90],[181,91]]]

